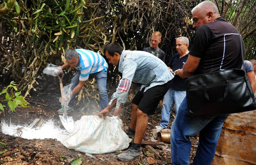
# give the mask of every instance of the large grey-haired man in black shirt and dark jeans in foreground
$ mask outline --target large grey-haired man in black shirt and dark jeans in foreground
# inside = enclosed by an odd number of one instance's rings
[[[193,28],[197,32],[192,40],[187,62],[183,65],[183,75],[190,77],[219,70],[241,69],[243,59],[240,34],[219,15],[215,4],[211,1],[198,4],[192,10],[192,17]],[[245,49],[242,51],[245,52]],[[227,117],[228,115],[190,117],[185,97],[171,126],[172,164],[189,164],[189,137],[199,132],[197,153],[192,164],[210,165]]]

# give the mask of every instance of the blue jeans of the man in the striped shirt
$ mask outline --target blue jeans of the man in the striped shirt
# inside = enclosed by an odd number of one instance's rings
[[[73,83],[71,90],[73,90],[78,85],[80,73],[81,73],[80,70],[78,70],[75,76],[71,79],[71,83]],[[106,91],[107,71],[91,73],[90,75],[96,79],[98,89],[99,89],[99,94],[100,94],[100,109],[102,110],[105,107],[107,107],[109,103],[108,94]],[[74,106],[74,99],[76,95],[77,93],[72,96],[68,105],[69,107]]]

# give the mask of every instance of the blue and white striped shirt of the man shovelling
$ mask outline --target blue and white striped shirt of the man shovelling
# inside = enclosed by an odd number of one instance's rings
[[[85,81],[88,79],[90,73],[97,73],[107,71],[108,64],[106,60],[98,53],[86,50],[75,49],[79,54],[79,63],[77,69],[81,71],[79,80]]]

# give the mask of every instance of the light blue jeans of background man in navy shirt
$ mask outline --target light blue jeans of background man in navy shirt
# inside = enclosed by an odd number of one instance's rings
[[[165,96],[163,97],[163,109],[161,112],[162,120],[160,121],[160,126],[164,129],[169,125],[170,114],[172,107],[175,103],[175,112],[177,111],[183,101],[184,97],[186,97],[186,91],[178,91],[170,88]]]

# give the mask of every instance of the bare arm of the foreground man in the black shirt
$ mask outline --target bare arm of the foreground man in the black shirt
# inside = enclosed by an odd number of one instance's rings
[[[186,63],[183,65],[182,73],[184,77],[190,77],[193,76],[195,70],[198,67],[198,64],[200,62],[201,58],[188,55]]]

